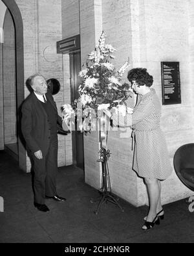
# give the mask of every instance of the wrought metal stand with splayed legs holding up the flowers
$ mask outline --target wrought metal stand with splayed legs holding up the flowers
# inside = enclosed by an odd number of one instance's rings
[[[101,133],[101,131],[99,131]],[[108,131],[107,131],[108,133]],[[107,137],[107,134],[106,134]],[[100,138],[101,134],[100,134]],[[100,211],[100,207],[103,205],[103,203],[107,203],[108,201],[111,203],[114,203],[117,205],[122,212],[124,212],[124,208],[120,206],[118,203],[119,198],[116,198],[113,196],[111,193],[111,182],[110,182],[110,177],[109,177],[109,166],[108,166],[108,159],[111,156],[111,153],[109,149],[105,149],[105,147],[102,146],[101,143],[101,149],[99,151],[100,153],[100,159],[98,159],[98,162],[102,162],[102,187],[99,190],[100,197],[97,199],[91,199],[91,203],[94,203],[98,201],[98,207],[96,211],[94,211],[94,214],[98,214]]]

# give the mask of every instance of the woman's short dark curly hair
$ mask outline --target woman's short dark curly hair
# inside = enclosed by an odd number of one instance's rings
[[[129,70],[127,79],[131,83],[135,80],[140,86],[146,84],[147,87],[150,87],[153,84],[153,76],[149,75],[146,68],[133,68]]]

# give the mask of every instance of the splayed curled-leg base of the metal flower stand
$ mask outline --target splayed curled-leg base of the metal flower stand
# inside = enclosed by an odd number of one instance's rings
[[[91,198],[91,203],[95,203],[96,201],[99,201],[98,207],[97,207],[96,211],[94,211],[94,214],[97,215],[98,212],[100,211],[101,205],[103,203],[107,203],[108,201],[111,203],[114,203],[114,205],[117,205],[121,209],[121,211],[124,212],[124,208],[121,207],[120,204],[118,203],[119,199],[115,198],[111,192],[107,192],[107,191],[106,192],[99,191],[99,192],[101,194],[100,198],[97,198],[97,199]]]

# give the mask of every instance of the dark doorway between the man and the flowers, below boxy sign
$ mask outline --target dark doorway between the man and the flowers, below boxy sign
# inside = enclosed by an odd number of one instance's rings
[[[78,86],[80,84],[78,74],[80,70],[80,52],[70,53],[70,94],[72,104],[75,99],[78,99]],[[80,131],[72,131],[72,160],[75,166],[84,170],[83,133]]]

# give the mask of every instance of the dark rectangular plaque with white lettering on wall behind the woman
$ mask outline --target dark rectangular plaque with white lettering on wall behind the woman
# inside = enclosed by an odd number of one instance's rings
[[[161,62],[162,105],[180,104],[179,62]]]

